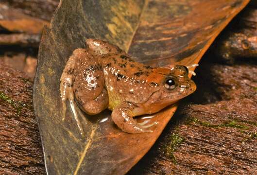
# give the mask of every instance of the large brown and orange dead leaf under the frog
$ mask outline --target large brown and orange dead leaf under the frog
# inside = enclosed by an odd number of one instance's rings
[[[59,79],[72,51],[99,38],[151,66],[198,63],[206,49],[248,0],[61,0],[43,32],[34,80],[34,110],[48,174],[125,174],[145,155],[177,105],[156,114],[153,133],[127,134],[110,111],[86,116],[85,136],[68,111]],[[100,119],[108,120],[99,123]]]

